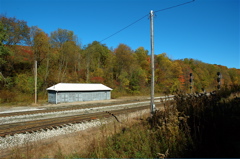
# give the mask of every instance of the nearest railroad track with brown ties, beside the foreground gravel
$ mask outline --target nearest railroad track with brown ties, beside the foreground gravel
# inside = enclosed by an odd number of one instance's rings
[[[111,113],[116,115],[130,113],[138,110],[143,110],[149,108],[149,105],[133,107],[128,109],[112,110]],[[14,135],[20,133],[32,133],[36,131],[43,131],[48,129],[57,129],[67,125],[82,123],[84,121],[91,121],[101,118],[109,118],[112,115],[106,112],[81,114],[65,117],[56,117],[50,119],[33,120],[27,122],[18,122],[11,124],[0,125],[0,136],[5,137],[7,135]]]

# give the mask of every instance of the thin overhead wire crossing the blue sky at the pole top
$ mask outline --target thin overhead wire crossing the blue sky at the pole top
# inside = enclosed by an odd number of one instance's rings
[[[174,5],[174,6],[171,6],[171,7],[167,7],[167,8],[164,8],[164,9],[160,9],[160,10],[155,11],[155,13],[156,13],[156,12],[162,12],[162,11],[169,10],[169,9],[173,9],[173,8],[176,8],[176,7],[180,7],[180,6],[183,6],[183,5],[192,3],[192,2],[194,2],[194,1],[195,1],[195,0],[192,0],[192,1],[188,1],[188,2],[185,2],[185,3],[178,4],[178,5]],[[105,40],[107,40],[107,39],[109,39],[109,38],[111,38],[111,37],[113,37],[114,35],[122,32],[123,30],[129,28],[130,26],[136,24],[137,22],[141,21],[142,19],[144,19],[144,18],[147,17],[147,16],[149,16],[149,14],[144,15],[143,17],[137,19],[136,21],[132,22],[131,24],[127,25],[126,27],[124,27],[124,28],[116,31],[115,33],[109,35],[108,37],[102,39],[102,40],[100,41],[100,43],[103,42],[103,41],[105,41]]]

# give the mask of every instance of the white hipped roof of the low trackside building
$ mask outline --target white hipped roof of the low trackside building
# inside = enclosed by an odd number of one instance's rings
[[[52,91],[111,91],[103,84],[99,83],[58,83],[52,87],[47,88]]]

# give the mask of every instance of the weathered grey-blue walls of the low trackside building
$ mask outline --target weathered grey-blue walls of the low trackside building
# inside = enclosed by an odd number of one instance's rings
[[[78,102],[78,101],[94,101],[94,100],[111,99],[110,91],[95,91],[95,92],[48,91],[48,102],[56,103],[56,94],[57,94],[57,103],[70,103],[70,102]]]

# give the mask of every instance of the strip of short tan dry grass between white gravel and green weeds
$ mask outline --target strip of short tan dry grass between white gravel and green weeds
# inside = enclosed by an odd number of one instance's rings
[[[129,129],[133,124],[139,123],[140,118],[145,115],[137,112],[137,116],[134,118],[130,115],[118,117],[121,123],[111,118],[108,120],[112,120],[112,122],[106,125],[103,124],[84,131],[27,143],[25,147],[14,147],[8,152],[11,152],[10,158],[74,158],[76,154],[86,155],[89,153],[89,146],[91,147],[94,143],[97,144],[98,141],[103,141],[106,137],[122,131],[123,128]]]

